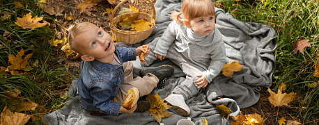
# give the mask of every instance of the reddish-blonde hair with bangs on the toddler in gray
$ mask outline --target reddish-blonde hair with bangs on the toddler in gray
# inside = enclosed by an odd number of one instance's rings
[[[183,19],[190,21],[194,18],[205,17],[208,15],[215,16],[215,5],[212,0],[185,0],[182,2],[180,12],[177,12],[176,10],[171,12],[171,19],[178,24],[183,25]]]

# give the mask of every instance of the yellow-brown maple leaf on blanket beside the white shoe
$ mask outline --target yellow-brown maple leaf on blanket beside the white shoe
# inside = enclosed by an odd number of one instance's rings
[[[150,114],[153,115],[154,119],[161,123],[162,117],[171,117],[171,114],[166,109],[171,108],[167,103],[164,103],[164,99],[158,97],[158,93],[153,96],[148,94],[146,100],[150,102]]]

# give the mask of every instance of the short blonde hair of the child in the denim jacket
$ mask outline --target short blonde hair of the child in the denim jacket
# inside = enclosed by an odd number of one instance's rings
[[[83,33],[86,30],[86,26],[88,26],[89,24],[91,23],[82,22],[79,24],[75,24],[75,26],[70,27],[69,34],[68,34],[68,42],[73,51],[80,53],[79,49],[77,49],[77,44],[75,44],[75,38],[77,37],[77,35]]]

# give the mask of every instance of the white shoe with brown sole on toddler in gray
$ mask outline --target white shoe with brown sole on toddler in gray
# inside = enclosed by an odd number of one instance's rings
[[[179,115],[188,116],[191,112],[189,107],[186,105],[182,94],[169,94],[169,97],[166,97],[164,100],[171,104],[171,106],[173,106],[173,110],[175,110]]]

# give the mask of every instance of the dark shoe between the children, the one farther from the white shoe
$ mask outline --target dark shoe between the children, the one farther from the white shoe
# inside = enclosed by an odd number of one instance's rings
[[[157,76],[158,79],[163,80],[164,78],[168,78],[174,72],[174,68],[171,65],[160,65],[158,67],[146,67],[141,69],[139,72],[139,76],[145,76],[150,73]]]

